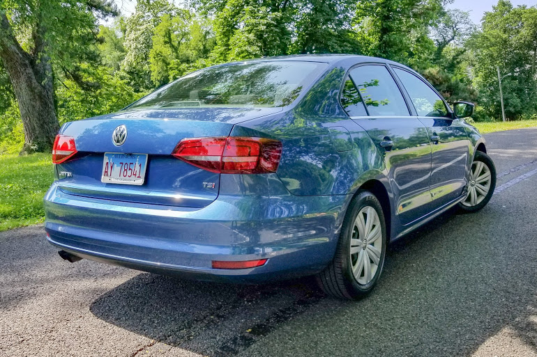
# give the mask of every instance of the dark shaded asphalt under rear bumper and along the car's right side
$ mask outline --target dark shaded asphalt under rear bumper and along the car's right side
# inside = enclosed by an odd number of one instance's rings
[[[483,229],[499,211],[451,211],[391,244],[379,285],[361,301],[326,297],[312,278],[225,285],[141,273],[90,309],[203,356],[469,356],[502,331],[535,354],[537,247],[521,237],[499,250],[512,227]],[[518,269],[512,254],[534,270]]]

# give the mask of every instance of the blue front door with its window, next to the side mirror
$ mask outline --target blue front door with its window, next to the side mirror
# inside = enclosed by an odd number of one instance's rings
[[[393,67],[393,70],[430,135],[430,191],[432,200],[440,207],[459,198],[467,184],[470,143],[466,129],[430,84],[402,68]]]

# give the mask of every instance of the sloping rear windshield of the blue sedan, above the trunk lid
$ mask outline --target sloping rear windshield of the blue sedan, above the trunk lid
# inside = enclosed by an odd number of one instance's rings
[[[263,61],[206,68],[156,90],[128,109],[286,106],[326,65]]]

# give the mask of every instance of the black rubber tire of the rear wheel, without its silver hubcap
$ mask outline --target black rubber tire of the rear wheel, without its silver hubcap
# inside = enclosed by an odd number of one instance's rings
[[[358,283],[358,280],[354,277],[354,273],[352,271],[352,265],[354,264],[353,260],[358,259],[357,257],[359,253],[351,255],[351,237],[354,232],[358,231],[357,228],[354,228],[354,222],[356,221],[358,213],[361,212],[361,210],[365,207],[372,207],[375,209],[375,212],[377,212],[379,228],[381,230],[381,237],[378,239],[381,239],[382,246],[380,249],[379,264],[377,265],[374,276],[372,276],[372,279],[369,281],[369,283],[361,284]],[[375,225],[372,227],[375,227]],[[371,232],[373,230],[375,230],[375,228],[371,228]],[[356,235],[355,237],[358,236]],[[361,237],[361,239],[363,239],[363,237]],[[376,241],[378,241],[378,239]],[[369,264],[373,263],[375,265],[373,260],[370,260],[368,255],[364,256],[367,257],[364,257],[364,260],[368,259],[368,262],[370,262]],[[359,299],[371,292],[373,287],[375,287],[377,284],[377,281],[382,273],[382,268],[384,267],[385,256],[386,221],[384,220],[382,207],[379,203],[379,200],[377,200],[372,193],[369,191],[361,191],[349,204],[349,208],[347,209],[347,214],[345,215],[345,220],[343,221],[341,228],[338,247],[336,248],[334,258],[331,264],[329,264],[324,271],[317,275],[317,282],[319,283],[320,287],[322,287],[324,292],[326,292],[326,294],[340,299]]]

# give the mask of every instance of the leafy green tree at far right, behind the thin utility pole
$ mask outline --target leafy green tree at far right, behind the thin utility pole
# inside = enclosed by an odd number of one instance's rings
[[[513,7],[506,0],[485,13],[481,30],[469,41],[474,59],[471,70],[480,90],[479,104],[493,118],[501,118],[497,68],[508,119],[537,112],[537,8]],[[508,75],[510,74],[510,75]]]

